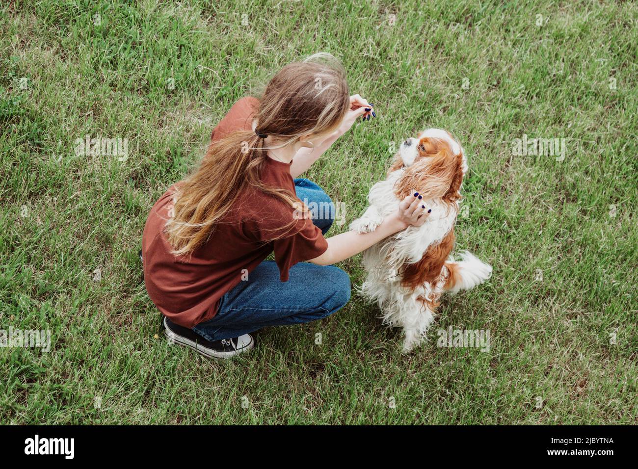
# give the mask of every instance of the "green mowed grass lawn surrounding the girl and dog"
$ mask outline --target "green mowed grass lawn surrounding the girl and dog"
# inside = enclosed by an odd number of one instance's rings
[[[635,3],[1,8],[0,329],[52,338],[50,352],[0,348],[0,423],[637,423]],[[334,233],[393,148],[445,128],[470,162],[456,250],[493,277],[445,297],[408,356],[354,290],[239,359],[170,345],[137,258],[149,209],[235,100],[318,51],[378,114],[306,174],[343,202]],[[127,139],[128,158],[77,154],[86,135]],[[517,138],[564,152],[516,154]],[[359,256],[339,265],[360,284]],[[489,331],[490,350],[438,347],[449,327]]]

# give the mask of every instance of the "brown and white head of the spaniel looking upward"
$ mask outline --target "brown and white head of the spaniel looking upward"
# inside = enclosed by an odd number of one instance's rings
[[[425,200],[461,198],[461,182],[468,170],[463,147],[449,132],[427,129],[418,138],[410,137],[397,153],[390,172],[403,168],[395,193],[399,200],[419,191]]]

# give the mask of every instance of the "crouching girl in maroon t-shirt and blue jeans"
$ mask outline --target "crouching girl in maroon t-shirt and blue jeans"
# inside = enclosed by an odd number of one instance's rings
[[[172,340],[228,358],[252,348],[262,327],[325,318],[350,299],[350,277],[331,264],[424,223],[410,196],[374,232],[325,238],[334,205],[295,179],[372,112],[329,54],[288,64],[259,100],[235,103],[197,171],[159,198],[144,228],[145,284]],[[301,200],[329,204],[329,216]]]

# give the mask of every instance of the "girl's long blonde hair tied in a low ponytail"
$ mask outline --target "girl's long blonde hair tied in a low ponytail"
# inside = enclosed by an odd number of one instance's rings
[[[343,66],[330,54],[314,54],[286,65],[271,79],[260,98],[257,128],[271,137],[273,148],[284,147],[302,135],[336,130],[349,108]],[[247,186],[290,204],[291,211],[299,205],[290,191],[263,184],[267,150],[265,139],[251,130],[209,145],[197,170],[175,193],[174,216],[165,228],[175,255],[200,248]]]

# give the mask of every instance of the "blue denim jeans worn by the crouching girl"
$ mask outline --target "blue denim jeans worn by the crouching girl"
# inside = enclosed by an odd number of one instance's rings
[[[335,216],[330,197],[308,179],[295,179],[295,189],[312,212],[313,223],[326,234]],[[300,262],[290,268],[288,281],[282,282],[277,264],[265,260],[250,272],[248,280],[221,297],[214,318],[193,331],[209,341],[229,339],[271,325],[325,318],[349,299],[350,276],[339,267]]]

